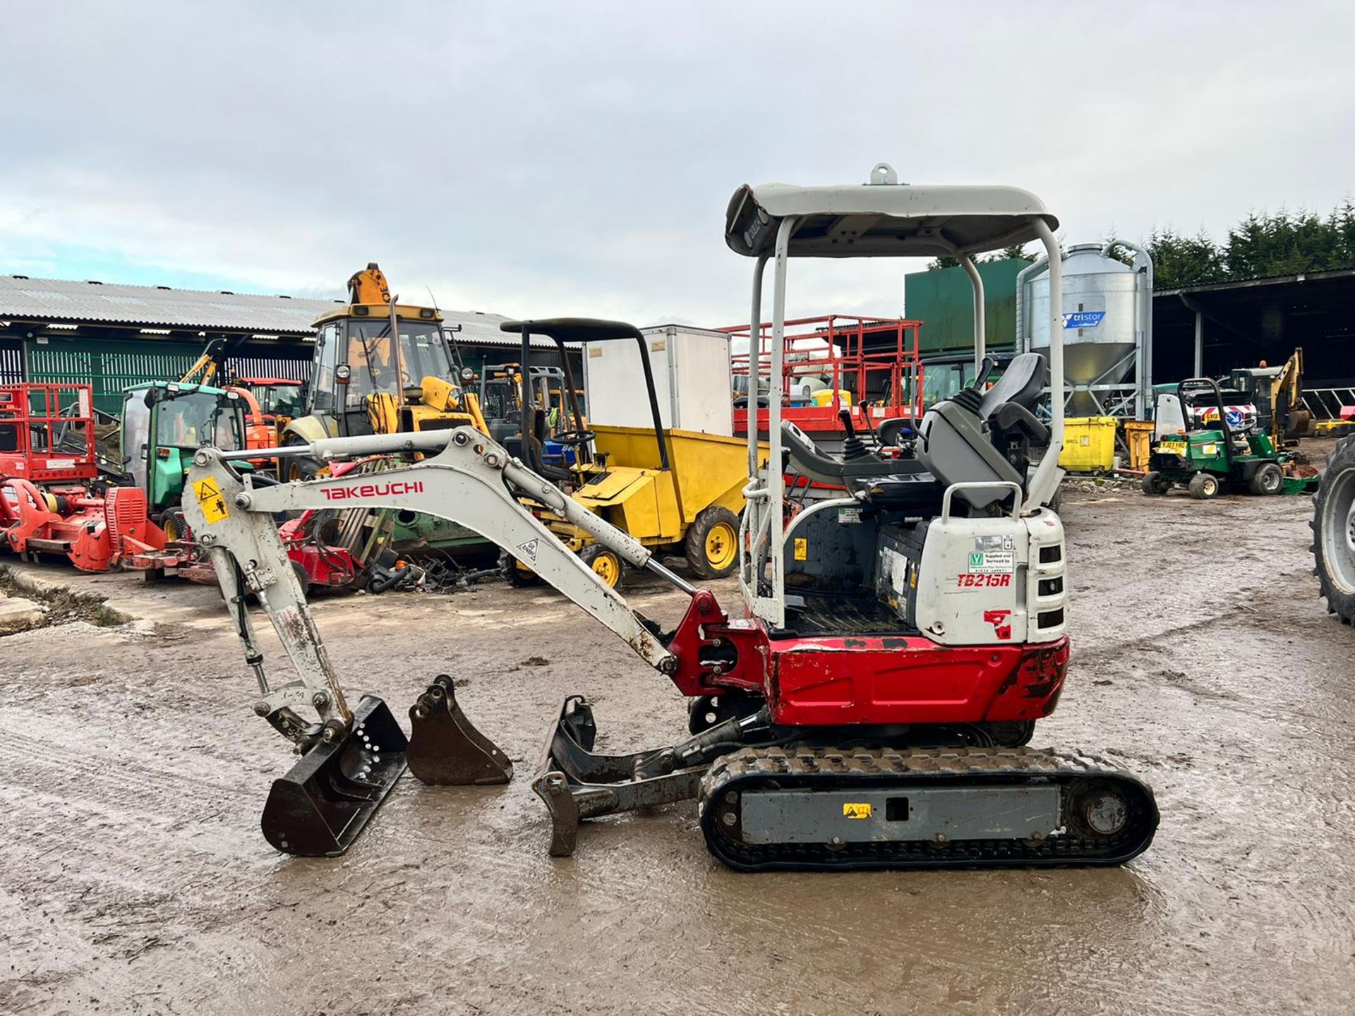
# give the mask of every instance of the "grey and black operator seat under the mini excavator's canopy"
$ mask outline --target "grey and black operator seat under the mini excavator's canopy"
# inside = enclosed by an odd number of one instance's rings
[[[942,484],[995,482],[1019,484],[1026,477],[999,450],[989,431],[989,421],[1020,416],[1023,421],[1043,428],[1031,412],[1045,386],[1045,358],[1027,352],[1015,358],[1001,379],[988,391],[965,389],[955,398],[938,402],[923,417],[917,429],[917,459]],[[1028,420],[1026,420],[1028,417]],[[966,488],[958,497],[976,509],[985,509],[1008,497],[1003,486]]]

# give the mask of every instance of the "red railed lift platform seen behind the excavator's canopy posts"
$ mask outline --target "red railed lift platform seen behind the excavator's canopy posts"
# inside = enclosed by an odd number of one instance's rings
[[[852,425],[862,433],[881,420],[912,416],[921,400],[921,364],[919,360],[921,321],[904,318],[867,318],[855,314],[824,314],[787,321],[783,339],[782,390],[789,404],[783,419],[818,442],[836,450],[843,424],[839,413],[847,409]],[[749,352],[730,356],[734,386],[734,433],[748,435],[748,404],[753,385],[748,382],[751,328],[730,325],[720,329],[749,344]],[[770,363],[771,324],[762,325],[760,371],[766,383]],[[808,390],[806,390],[808,389]],[[757,431],[767,436],[767,406],[763,397],[757,409]],[[863,404],[870,402],[869,413]]]

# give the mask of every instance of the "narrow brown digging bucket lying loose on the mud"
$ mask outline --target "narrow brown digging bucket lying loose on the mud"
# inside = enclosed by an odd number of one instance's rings
[[[508,756],[457,704],[457,691],[444,673],[409,707],[409,772],[423,783],[462,786],[507,783]]]

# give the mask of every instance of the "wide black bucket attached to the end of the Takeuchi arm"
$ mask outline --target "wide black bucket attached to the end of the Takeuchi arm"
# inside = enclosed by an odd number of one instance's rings
[[[386,703],[364,695],[346,737],[317,744],[272,782],[264,837],[302,858],[343,853],[405,771],[406,748]]]

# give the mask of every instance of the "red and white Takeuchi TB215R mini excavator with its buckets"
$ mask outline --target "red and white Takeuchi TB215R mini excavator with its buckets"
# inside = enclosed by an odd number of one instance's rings
[[[340,501],[476,528],[691,699],[688,738],[625,756],[593,753],[591,706],[581,695],[565,700],[533,782],[550,811],[553,855],[573,851],[583,818],[683,799],[698,802],[710,851],[741,870],[1119,864],[1145,849],[1157,826],[1146,784],[1081,753],[1026,746],[1058,702],[1069,652],[1064,528],[1042,507],[1058,481],[1062,398],[1047,427],[1030,409],[1043,358],[1016,358],[991,391],[970,387],[931,406],[916,458],[881,457],[869,475],[780,420],[793,257],[946,255],[977,278],[973,255],[1039,240],[1050,255],[1050,389],[1062,391],[1057,225],[1026,191],[905,186],[883,164],[863,186],[738,188],[725,240],[755,263],[753,326],[764,268],[775,266],[771,458],[762,465],[751,433],[741,618],[470,427],[282,450],[314,462],[427,458],[379,475],[276,486],[232,467],[248,452],[199,450],[191,522],[259,679],[255,711],[302,753],[264,809],[270,843],[341,853],[406,760],[430,783],[504,782],[512,772],[443,677],[411,710],[408,744],[379,699],[348,707],[271,522],[275,512]],[[976,328],[976,360],[981,336]],[[1041,446],[1049,451],[1030,473],[1027,451]],[[837,470],[844,496],[795,512],[783,450]],[[635,612],[523,497],[690,596],[683,619],[663,631]],[[285,684],[267,677],[251,593],[295,669]],[[316,718],[304,718],[310,710]]]

